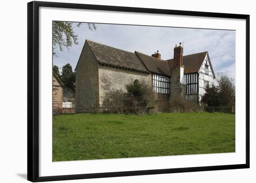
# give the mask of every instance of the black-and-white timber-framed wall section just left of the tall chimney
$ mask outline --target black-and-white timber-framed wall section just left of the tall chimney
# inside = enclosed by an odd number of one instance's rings
[[[153,91],[158,94],[169,94],[170,78],[153,74]]]

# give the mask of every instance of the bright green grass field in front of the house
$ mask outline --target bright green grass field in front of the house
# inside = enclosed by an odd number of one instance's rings
[[[235,114],[54,116],[54,161],[235,151]]]

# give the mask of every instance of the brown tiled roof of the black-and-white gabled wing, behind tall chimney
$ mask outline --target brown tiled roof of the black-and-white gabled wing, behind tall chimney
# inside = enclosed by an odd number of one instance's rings
[[[191,55],[183,56],[184,73],[198,72],[201,68],[203,60],[207,54],[207,51],[202,53],[195,53]],[[172,65],[173,59],[167,60]],[[171,66],[172,68],[172,66]]]

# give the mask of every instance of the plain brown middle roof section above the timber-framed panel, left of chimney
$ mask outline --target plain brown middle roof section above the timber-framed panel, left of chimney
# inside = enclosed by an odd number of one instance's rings
[[[165,75],[165,76],[171,76],[168,62],[149,56],[149,55],[145,55],[138,51],[135,51],[135,53],[141,59],[141,61],[144,63],[144,65],[147,67],[147,69],[150,72],[160,74],[160,75]]]

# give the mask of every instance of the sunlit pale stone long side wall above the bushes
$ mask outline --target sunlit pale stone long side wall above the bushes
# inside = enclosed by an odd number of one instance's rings
[[[126,91],[125,85],[134,82],[135,79],[141,82],[144,80],[152,87],[152,74],[142,74],[124,69],[99,66],[99,99],[100,104],[105,92],[109,89],[121,89]]]

